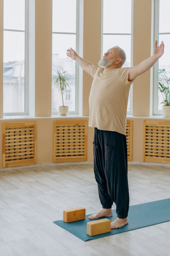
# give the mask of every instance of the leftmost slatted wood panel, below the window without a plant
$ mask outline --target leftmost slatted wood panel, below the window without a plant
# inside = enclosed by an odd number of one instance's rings
[[[3,123],[3,167],[36,163],[36,123]]]

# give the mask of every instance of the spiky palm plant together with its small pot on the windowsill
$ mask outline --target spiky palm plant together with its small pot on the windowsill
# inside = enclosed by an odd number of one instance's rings
[[[56,75],[52,76],[52,83],[58,89],[62,95],[62,106],[59,106],[59,112],[61,116],[66,116],[68,112],[68,106],[64,105],[63,95],[66,93],[67,89],[70,89],[70,86],[67,81],[70,80],[70,76],[66,74],[66,71],[56,70]]]

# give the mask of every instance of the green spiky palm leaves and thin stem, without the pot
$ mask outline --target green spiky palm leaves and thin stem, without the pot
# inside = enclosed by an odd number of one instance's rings
[[[70,76],[66,73],[66,71],[56,70],[56,75],[52,76],[52,83],[58,91],[62,94],[62,102],[64,106],[63,94],[66,93],[67,89],[70,89],[70,86],[67,81],[70,80]]]

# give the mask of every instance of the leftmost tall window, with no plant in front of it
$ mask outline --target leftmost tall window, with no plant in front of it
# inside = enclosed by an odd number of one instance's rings
[[[25,38],[26,1],[4,1],[3,110],[26,114]]]

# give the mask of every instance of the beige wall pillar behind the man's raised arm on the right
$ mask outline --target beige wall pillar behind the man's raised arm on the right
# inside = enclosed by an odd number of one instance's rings
[[[151,55],[151,3],[152,0],[134,0],[133,65]],[[133,83],[133,115],[149,116],[150,71],[140,75]]]

